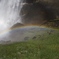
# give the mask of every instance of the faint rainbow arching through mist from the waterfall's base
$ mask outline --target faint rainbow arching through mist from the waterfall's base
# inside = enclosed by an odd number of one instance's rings
[[[46,27],[46,26],[39,26],[39,25],[26,25],[26,26],[15,27],[15,28],[10,28],[10,29],[4,30],[4,31],[0,32],[0,36],[10,32],[10,31],[17,30],[19,28],[27,28],[27,27],[40,27],[40,28],[54,29],[54,28],[50,28],[50,27]]]

